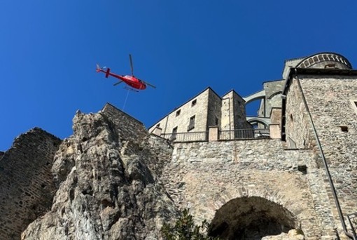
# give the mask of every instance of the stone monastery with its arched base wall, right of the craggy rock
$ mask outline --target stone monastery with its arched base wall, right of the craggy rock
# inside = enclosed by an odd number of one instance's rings
[[[254,100],[258,116],[247,117]],[[212,235],[249,239],[281,225],[306,239],[356,239],[357,70],[344,56],[286,60],[281,80],[246,98],[206,88],[148,131],[174,142],[172,169],[184,172],[175,200],[213,219]]]

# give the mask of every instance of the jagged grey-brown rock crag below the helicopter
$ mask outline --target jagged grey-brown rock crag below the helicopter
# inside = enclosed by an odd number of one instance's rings
[[[156,141],[111,105],[77,112],[52,165],[52,208],[22,239],[160,239],[177,209],[159,180],[171,152]]]

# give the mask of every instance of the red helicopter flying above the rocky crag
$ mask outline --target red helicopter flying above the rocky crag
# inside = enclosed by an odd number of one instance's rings
[[[111,73],[111,69],[109,67],[99,67],[99,65],[97,65],[97,72],[104,72],[106,74],[106,77],[114,76],[117,79],[120,79],[120,81],[113,84],[113,86],[117,86],[118,84],[125,82],[125,84],[131,86],[132,88],[139,89],[139,90],[144,90],[147,85],[151,86],[153,88],[156,88],[152,84],[149,84],[148,82],[138,79],[136,76],[134,76],[134,69],[132,67],[132,55],[131,54],[129,54],[129,58],[130,58],[130,67],[132,68],[132,76],[130,76],[130,75],[124,76],[124,75],[114,74],[114,73]],[[136,91],[135,89],[132,89],[132,88],[130,88],[130,89],[133,91]]]

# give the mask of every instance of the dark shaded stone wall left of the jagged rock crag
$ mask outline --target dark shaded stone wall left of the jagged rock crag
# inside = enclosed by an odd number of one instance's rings
[[[50,209],[55,185],[50,169],[61,140],[34,128],[0,157],[0,239],[21,232]]]

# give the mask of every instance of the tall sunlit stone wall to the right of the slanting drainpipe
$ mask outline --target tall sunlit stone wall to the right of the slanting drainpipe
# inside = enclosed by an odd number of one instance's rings
[[[356,76],[300,76],[344,215],[357,211]],[[332,197],[330,198],[333,204]],[[339,220],[336,220],[339,221]]]

